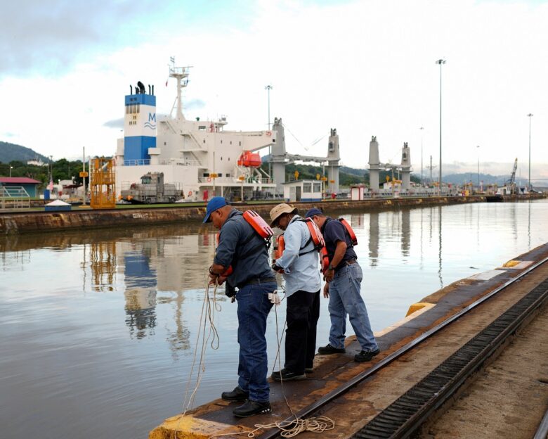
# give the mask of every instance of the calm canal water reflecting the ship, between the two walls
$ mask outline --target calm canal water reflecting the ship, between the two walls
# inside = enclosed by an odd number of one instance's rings
[[[548,241],[546,200],[344,217],[375,331]],[[146,438],[181,412],[214,243],[198,223],[1,237],[0,437]],[[236,385],[237,305],[222,290],[216,300],[220,343],[205,352],[196,405]],[[281,335],[285,303],[268,319],[270,370],[276,317]],[[329,326],[322,299],[318,345]]]

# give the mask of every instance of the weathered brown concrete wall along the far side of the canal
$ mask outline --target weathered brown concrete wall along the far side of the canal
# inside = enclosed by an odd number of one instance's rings
[[[372,210],[399,209],[403,207],[425,207],[434,205],[452,205],[465,203],[485,203],[488,201],[516,201],[535,200],[545,198],[544,194],[532,193],[528,196],[432,196],[426,198],[375,198],[363,201],[334,200],[318,201],[315,203],[293,203],[299,210],[306,210],[321,206],[326,212],[368,212]],[[235,204],[240,210],[256,210],[259,215],[268,217],[274,203]],[[194,203],[193,203],[194,204]],[[126,206],[129,207],[129,206]],[[181,221],[199,221],[205,215],[205,204],[170,205],[169,207],[155,207],[148,205],[142,208],[119,208],[113,210],[91,210],[89,208],[74,208],[70,212],[41,212],[41,211],[11,211],[0,210],[0,235],[59,232],[70,229],[101,229],[110,227],[136,227],[150,224],[169,224]]]

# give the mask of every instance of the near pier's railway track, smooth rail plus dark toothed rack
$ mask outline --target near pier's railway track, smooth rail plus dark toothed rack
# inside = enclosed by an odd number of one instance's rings
[[[548,261],[548,257],[531,265],[518,276],[510,279],[501,286],[490,291],[482,298],[476,300],[471,305],[463,308],[461,311],[441,322],[434,328],[426,331],[421,336],[415,338],[410,343],[407,343],[402,348],[391,353],[383,360],[374,364],[373,367],[358,374],[344,386],[340,386],[332,390],[330,393],[321,397],[313,404],[301,409],[297,413],[300,418],[308,418],[317,415],[322,407],[334,402],[349,390],[355,388],[365,379],[377,374],[381,369],[386,368],[407,352],[410,352],[417,345],[426,341],[426,339],[434,336],[436,333],[445,329],[453,322],[456,322],[461,317],[465,316],[471,310],[485,303],[486,300],[497,295],[500,291],[509,288],[516,284],[517,281],[523,279]],[[476,334],[462,348],[457,350],[453,355],[447,358],[444,362],[438,365],[436,369],[431,371],[415,386],[407,390],[389,407],[386,407],[382,412],[377,414],[363,428],[355,432],[352,437],[358,439],[379,439],[379,438],[407,438],[410,437],[417,429],[429,419],[429,416],[436,412],[441,406],[447,402],[452,395],[455,395],[462,384],[476,373],[483,364],[497,350],[499,350],[509,338],[518,331],[518,329],[532,317],[536,310],[540,309],[548,302],[548,279],[544,279],[537,287],[528,292],[517,303],[509,307],[502,313],[500,317],[493,320],[482,331]],[[291,420],[289,418],[288,420]],[[276,438],[280,431],[273,429],[263,433],[261,439]]]

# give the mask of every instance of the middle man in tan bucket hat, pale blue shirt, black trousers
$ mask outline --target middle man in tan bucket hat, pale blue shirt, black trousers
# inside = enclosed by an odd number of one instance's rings
[[[285,331],[285,364],[275,371],[275,381],[306,378],[313,371],[316,348],[316,326],[320,317],[320,277],[318,251],[311,231],[299,216],[299,210],[285,203],[270,210],[270,227],[284,232],[285,250],[274,261],[273,269],[285,279],[287,330]],[[319,233],[319,231],[318,231]]]

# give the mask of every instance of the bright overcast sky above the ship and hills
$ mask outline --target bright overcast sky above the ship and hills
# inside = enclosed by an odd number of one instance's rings
[[[337,128],[344,165],[411,148],[420,172],[528,172],[548,179],[545,1],[3,1],[0,140],[53,158],[112,155],[129,84],[155,84],[169,113],[169,57],[192,65],[185,115],[226,129],[282,117],[291,153],[325,155]],[[420,130],[424,127],[424,130]],[[317,144],[314,141],[320,139]],[[477,148],[479,146],[479,148]],[[437,170],[434,170],[436,174]],[[548,181],[548,180],[547,180]]]

